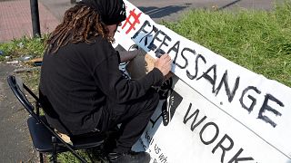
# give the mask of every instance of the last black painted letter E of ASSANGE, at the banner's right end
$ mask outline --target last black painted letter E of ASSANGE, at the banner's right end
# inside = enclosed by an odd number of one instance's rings
[[[271,120],[268,117],[266,117],[265,115],[263,115],[263,113],[266,110],[268,110],[270,112],[273,112],[276,116],[281,116],[282,114],[279,111],[277,111],[277,110],[273,109],[272,107],[270,107],[267,104],[268,101],[275,101],[278,105],[280,105],[281,107],[284,107],[284,104],[281,101],[277,100],[271,94],[266,94],[265,101],[263,103],[263,106],[262,106],[261,110],[258,113],[258,117],[257,118],[266,121],[266,123],[270,123],[274,128],[276,128],[276,123],[273,120]]]

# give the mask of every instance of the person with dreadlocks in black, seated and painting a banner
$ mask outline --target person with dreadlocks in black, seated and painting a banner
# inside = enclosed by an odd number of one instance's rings
[[[149,154],[131,148],[156,109],[158,94],[152,86],[161,85],[172,62],[164,54],[144,77],[126,80],[118,69],[126,59],[111,44],[124,20],[123,0],[83,0],[68,9],[47,41],[40,100],[51,127],[71,138],[121,124],[107,153],[110,162],[149,162]]]

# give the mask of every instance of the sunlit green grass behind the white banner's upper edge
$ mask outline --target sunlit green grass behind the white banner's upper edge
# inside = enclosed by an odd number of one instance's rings
[[[226,59],[291,87],[291,3],[272,12],[193,10],[168,28]]]

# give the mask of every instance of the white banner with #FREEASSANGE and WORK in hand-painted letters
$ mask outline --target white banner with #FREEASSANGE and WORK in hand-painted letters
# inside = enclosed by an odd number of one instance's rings
[[[291,89],[156,24],[125,1],[116,43],[158,57],[176,74],[135,148],[152,163],[291,163]],[[140,145],[140,146],[139,146]]]

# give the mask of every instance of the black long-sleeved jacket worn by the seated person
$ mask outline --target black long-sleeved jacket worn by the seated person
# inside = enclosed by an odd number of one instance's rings
[[[142,97],[163,80],[158,69],[128,81],[118,69],[119,55],[101,36],[95,43],[68,43],[45,53],[40,100],[49,124],[62,133],[78,135],[96,128],[107,99],[124,103]]]

